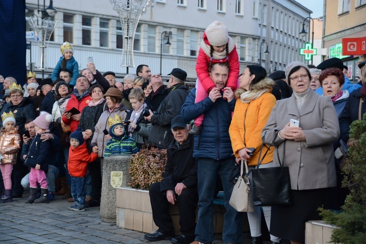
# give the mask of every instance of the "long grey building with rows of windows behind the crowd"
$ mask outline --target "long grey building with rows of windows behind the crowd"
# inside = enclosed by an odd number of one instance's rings
[[[278,65],[277,69],[284,69],[285,64],[301,60],[297,49],[306,38],[301,39],[298,33],[302,20],[309,16],[310,11],[294,0],[282,1],[268,3],[268,9],[275,6],[277,17],[274,22],[271,12],[266,12],[268,24],[264,25],[261,23],[262,6],[268,0],[153,0],[136,29],[135,67],[147,64],[153,73],[160,73],[161,69],[163,76],[180,67],[187,72],[187,80],[194,81],[203,31],[214,20],[220,20],[228,26],[229,35],[236,43],[241,70],[249,64],[259,63],[259,48],[263,40],[268,42],[270,49],[269,57],[262,53],[262,64],[267,66],[267,71],[268,65]],[[32,14],[38,15],[37,3],[37,0],[26,0],[30,9],[26,18]],[[287,7],[284,7],[286,4]],[[55,1],[54,7],[57,9],[54,19],[58,23],[48,42],[46,74],[51,73],[59,61],[60,47],[64,41],[73,45],[80,70],[86,67],[87,57],[92,56],[96,68],[102,73],[111,70],[118,78],[127,73],[127,68],[121,67],[122,26],[109,0]],[[299,25],[295,26],[293,20]],[[165,45],[167,37],[163,35],[164,31],[171,32],[169,47]],[[264,45],[262,48],[265,48]],[[27,68],[30,62],[34,62],[34,70],[40,73],[39,60],[38,43],[32,42],[31,51],[27,50]],[[135,72],[136,68],[128,69],[130,74]]]

